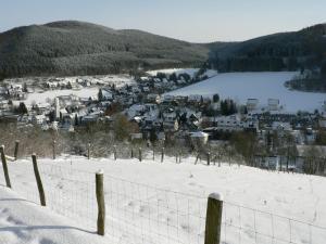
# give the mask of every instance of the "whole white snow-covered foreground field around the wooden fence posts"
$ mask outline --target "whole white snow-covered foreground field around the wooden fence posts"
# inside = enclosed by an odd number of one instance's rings
[[[39,159],[47,208],[33,204],[39,200],[30,160],[10,163],[13,191],[32,203],[0,185],[0,243],[74,243],[60,241],[67,235],[82,244],[90,243],[89,237],[91,243],[203,244],[206,197],[212,192],[225,200],[222,243],[325,242],[326,229],[317,228],[326,227],[325,178],[193,163],[183,158],[175,164],[168,157],[163,164],[160,158]],[[99,169],[104,170],[104,237],[84,231],[96,231]]]

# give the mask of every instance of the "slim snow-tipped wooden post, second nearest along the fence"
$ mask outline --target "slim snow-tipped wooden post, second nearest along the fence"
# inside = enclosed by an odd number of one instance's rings
[[[96,192],[98,202],[98,234],[105,233],[105,202],[104,202],[104,187],[103,187],[103,170],[96,174]]]

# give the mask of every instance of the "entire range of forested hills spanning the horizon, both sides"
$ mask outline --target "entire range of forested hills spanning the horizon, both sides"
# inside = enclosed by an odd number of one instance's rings
[[[294,70],[326,63],[326,25],[242,42],[190,43],[141,30],[64,21],[0,34],[0,78],[92,75],[201,66],[221,72]]]

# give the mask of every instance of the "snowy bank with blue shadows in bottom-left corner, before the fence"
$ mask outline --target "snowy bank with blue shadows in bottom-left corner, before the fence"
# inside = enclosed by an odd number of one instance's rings
[[[1,244],[100,244],[103,237],[0,188]]]

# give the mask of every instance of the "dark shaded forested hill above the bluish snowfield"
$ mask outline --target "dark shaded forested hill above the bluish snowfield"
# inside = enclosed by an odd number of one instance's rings
[[[210,63],[221,72],[315,68],[326,62],[326,24],[208,47],[211,49]]]

